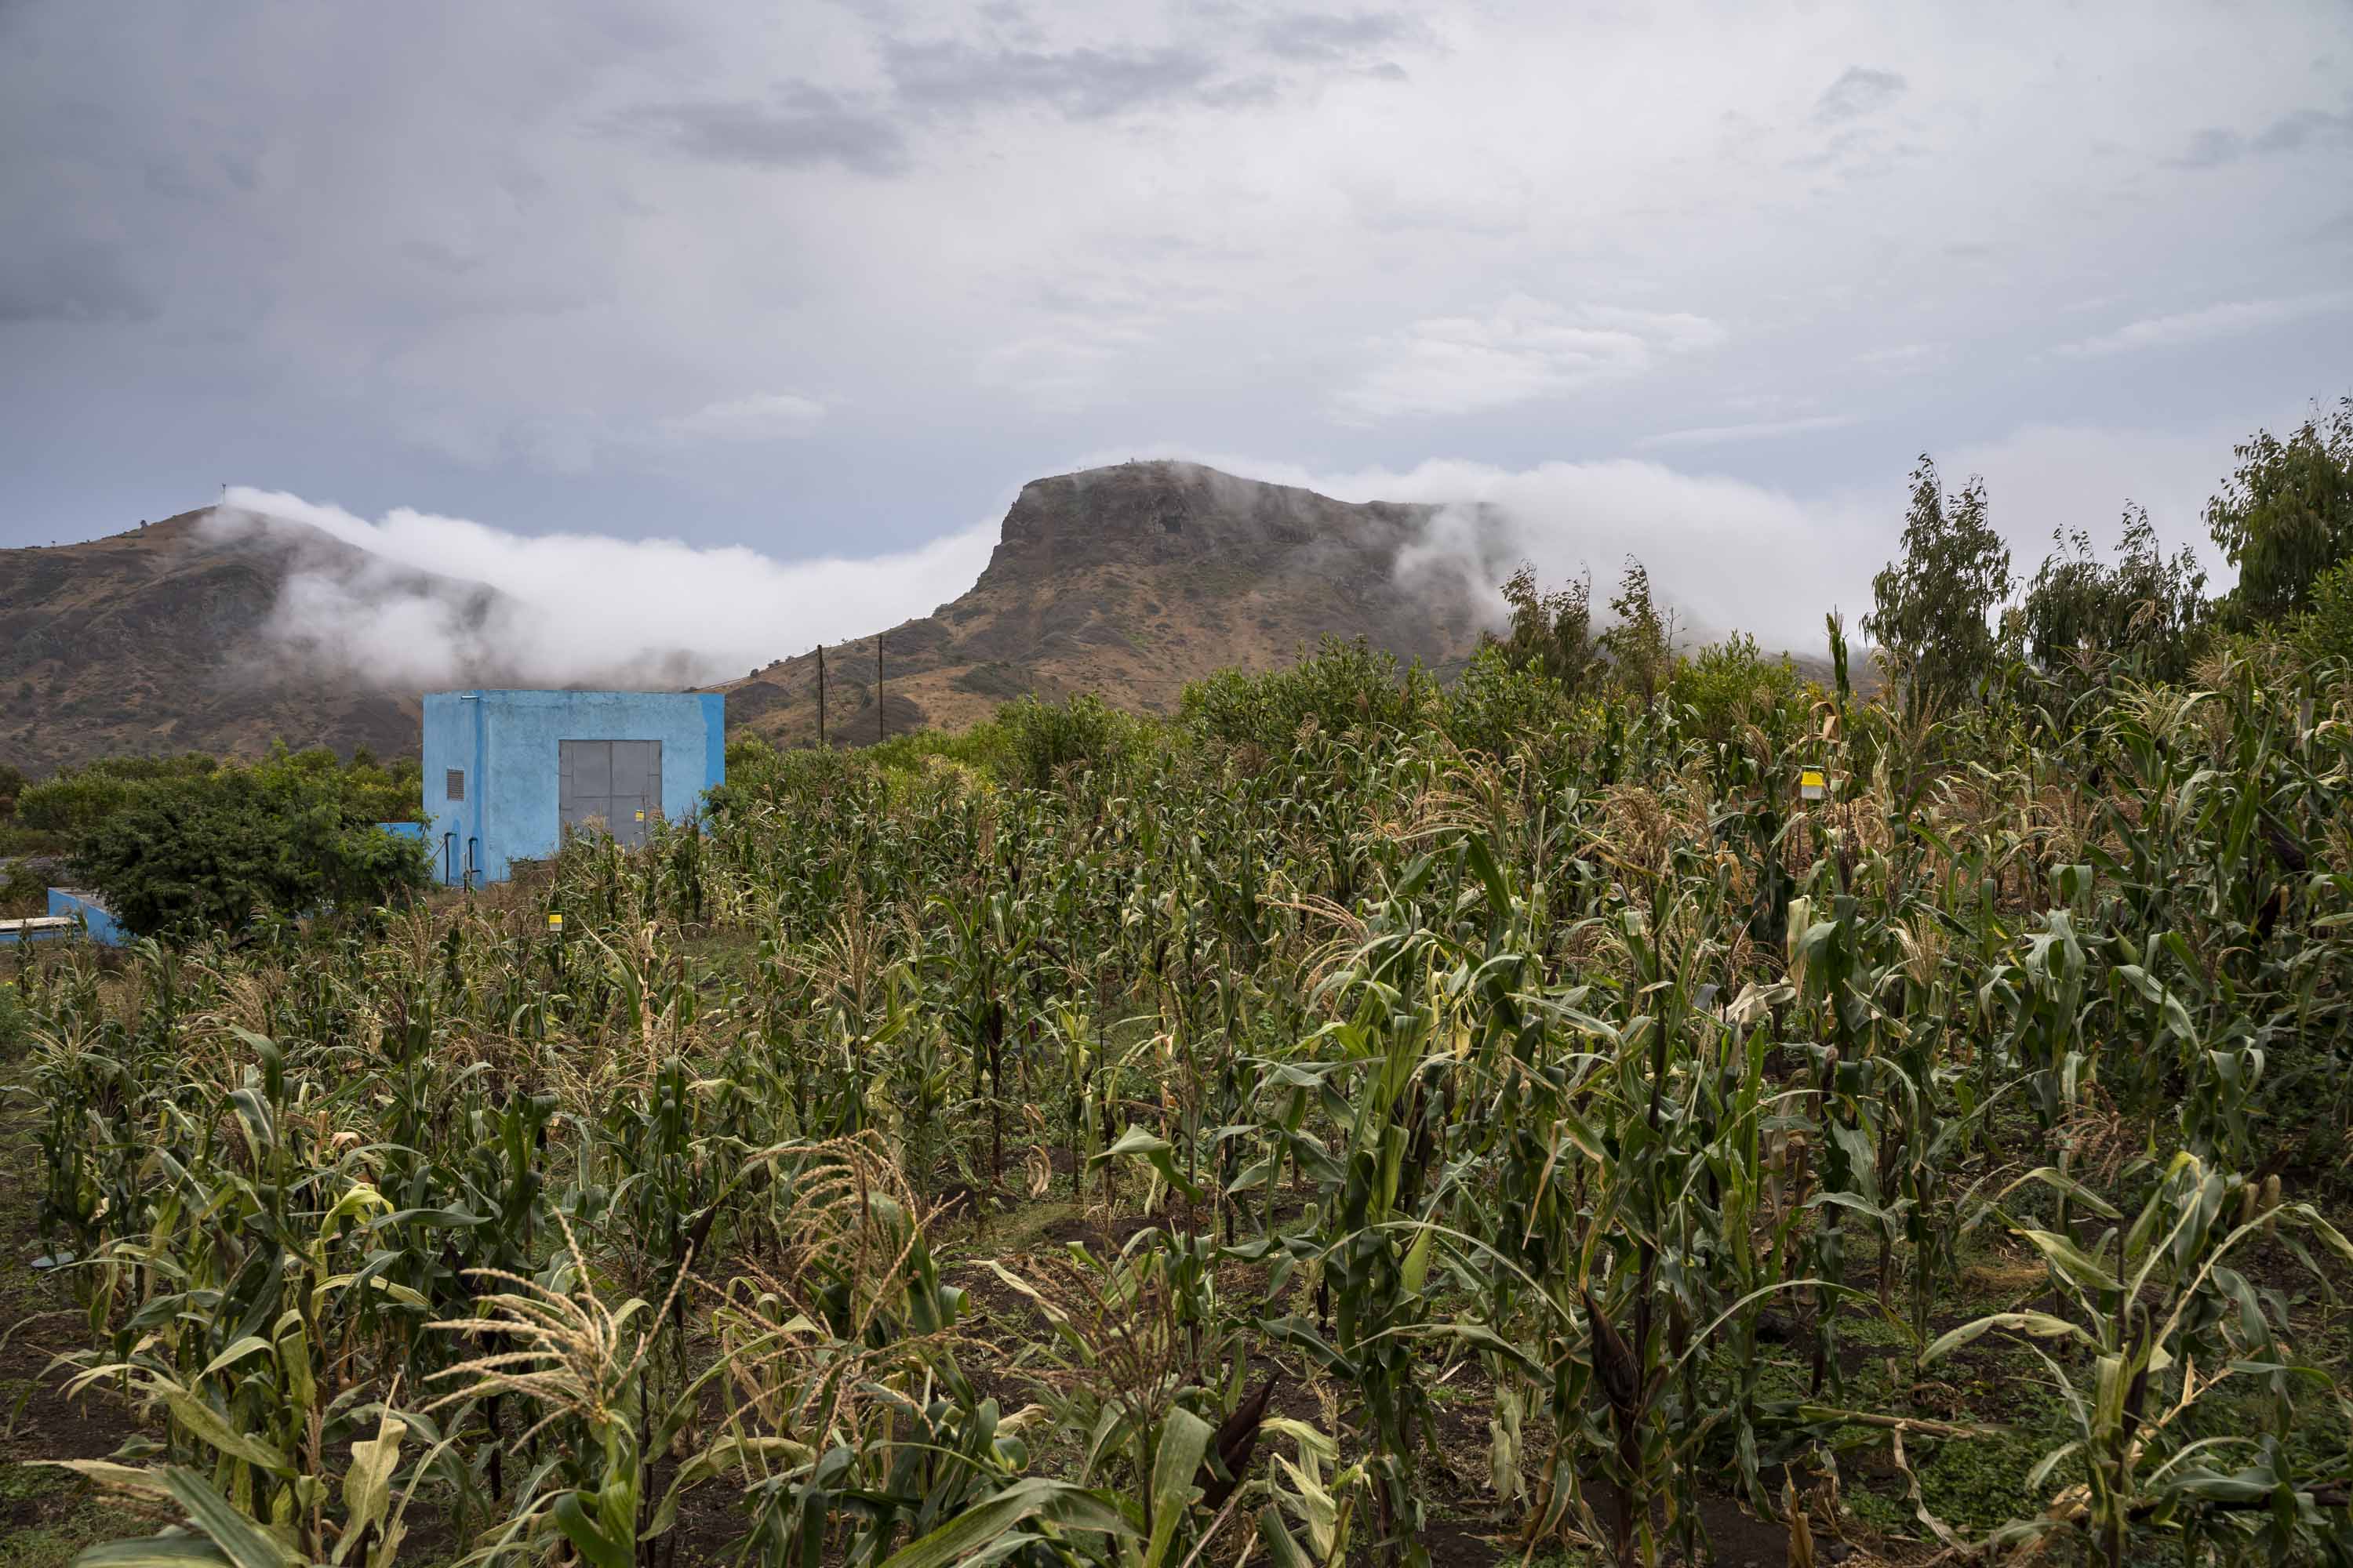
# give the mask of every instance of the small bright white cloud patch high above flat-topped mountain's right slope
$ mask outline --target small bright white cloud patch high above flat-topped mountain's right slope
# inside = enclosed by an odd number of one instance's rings
[[[1372,341],[1379,362],[1339,393],[1344,418],[1478,414],[1652,369],[1713,348],[1701,315],[1562,308],[1515,294],[1489,315],[1438,315]]]

